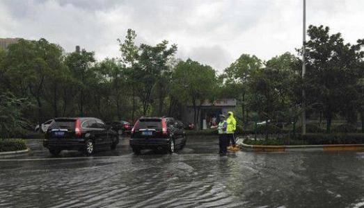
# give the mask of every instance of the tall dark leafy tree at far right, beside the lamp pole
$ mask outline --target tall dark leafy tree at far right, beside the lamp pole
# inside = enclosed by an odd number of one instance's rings
[[[308,66],[304,80],[308,103],[319,103],[326,116],[326,132],[331,132],[333,114],[356,108],[358,64],[361,46],[345,44],[340,33],[329,35],[329,27],[309,26],[306,42]]]

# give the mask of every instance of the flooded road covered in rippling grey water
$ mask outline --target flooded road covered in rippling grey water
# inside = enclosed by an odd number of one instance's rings
[[[0,207],[363,207],[364,153],[219,157],[217,140],[189,139],[173,155],[114,151],[0,159]]]

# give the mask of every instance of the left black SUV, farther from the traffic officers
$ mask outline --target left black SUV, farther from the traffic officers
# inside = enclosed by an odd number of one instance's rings
[[[93,155],[95,150],[110,146],[115,149],[118,134],[96,118],[57,118],[49,125],[43,146],[52,155],[61,150],[79,150]]]

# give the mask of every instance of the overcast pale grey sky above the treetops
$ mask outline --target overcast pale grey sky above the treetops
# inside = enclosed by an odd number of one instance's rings
[[[303,0],[1,0],[0,37],[45,37],[65,51],[79,45],[98,60],[118,57],[127,28],[138,43],[177,44],[177,57],[219,71],[242,53],[263,60],[301,46]],[[307,25],[323,24],[347,42],[364,38],[363,0],[307,0]]]

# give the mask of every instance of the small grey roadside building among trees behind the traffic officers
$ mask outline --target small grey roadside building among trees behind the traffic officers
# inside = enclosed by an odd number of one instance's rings
[[[194,123],[196,128],[206,129],[209,128],[214,119],[219,123],[219,114],[228,114],[229,111],[235,112],[237,100],[233,98],[219,99],[211,103],[210,101],[198,101],[198,122],[193,122],[193,106],[187,105],[184,107],[182,113],[182,121],[184,123]]]

